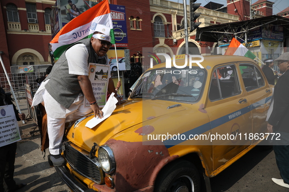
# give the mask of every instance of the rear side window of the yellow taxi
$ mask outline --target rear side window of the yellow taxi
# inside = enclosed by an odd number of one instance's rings
[[[258,89],[265,85],[260,70],[252,64],[240,64],[240,71],[246,91]]]

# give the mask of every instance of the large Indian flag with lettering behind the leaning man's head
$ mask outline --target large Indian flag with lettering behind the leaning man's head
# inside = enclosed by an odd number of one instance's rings
[[[50,41],[54,58],[57,60],[71,44],[91,38],[97,24],[111,28],[111,43],[114,44],[113,24],[108,0],[103,0],[68,22]]]

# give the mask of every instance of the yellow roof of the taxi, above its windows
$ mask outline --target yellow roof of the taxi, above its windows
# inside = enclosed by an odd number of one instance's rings
[[[223,63],[229,63],[229,62],[245,62],[245,61],[249,61],[249,62],[253,62],[256,63],[253,59],[251,58],[247,58],[247,57],[243,57],[243,56],[203,56],[204,60],[202,62],[200,62],[200,64],[206,68],[206,69],[210,69],[215,67],[216,65],[219,64],[223,64]],[[201,58],[193,58],[195,60],[200,60]],[[182,66],[184,65],[185,60],[184,59],[176,59],[176,65]],[[189,58],[187,60],[187,66],[189,66]],[[196,63],[192,63],[192,66],[196,66],[198,67],[198,65]],[[164,68],[166,67],[166,62],[160,63],[155,65],[153,68],[157,69],[157,68]],[[172,62],[172,67],[174,67],[173,62]]]

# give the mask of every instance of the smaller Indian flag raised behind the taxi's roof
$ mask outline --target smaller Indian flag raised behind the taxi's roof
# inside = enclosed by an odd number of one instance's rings
[[[256,58],[256,56],[252,52],[250,52],[243,44],[241,44],[236,38],[232,38],[224,55],[245,56],[251,59]]]

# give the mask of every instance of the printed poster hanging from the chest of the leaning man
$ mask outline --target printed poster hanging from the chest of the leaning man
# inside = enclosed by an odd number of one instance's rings
[[[106,104],[109,74],[109,65],[89,63],[89,80],[91,82],[96,103],[99,107],[104,107]],[[90,107],[89,101],[86,98],[84,102],[85,107]]]

